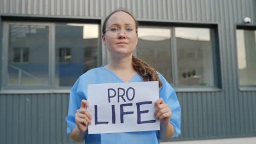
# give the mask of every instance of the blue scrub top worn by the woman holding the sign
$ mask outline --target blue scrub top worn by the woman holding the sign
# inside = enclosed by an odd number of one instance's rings
[[[159,74],[159,78],[162,81],[159,97],[164,99],[165,103],[171,108],[172,117],[170,123],[174,127],[172,137],[176,137],[181,134],[181,106],[174,89],[165,80],[164,76]],[[81,75],[70,92],[68,116],[66,117],[67,133],[71,133],[76,126],[74,115],[80,109],[82,99],[87,100],[87,85],[118,82],[124,81],[104,67],[91,69]],[[143,82],[143,79],[136,73],[129,82]],[[158,133],[159,131],[136,131],[129,133],[87,134],[85,143],[159,143]]]

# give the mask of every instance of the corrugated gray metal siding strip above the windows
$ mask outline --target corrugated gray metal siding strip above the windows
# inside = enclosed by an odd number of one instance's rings
[[[13,15],[104,17],[114,9],[123,7],[129,9],[138,19],[232,24],[232,22],[242,22],[244,17],[250,16],[253,22],[255,21],[254,0],[1,0],[1,2],[2,14]],[[228,19],[223,19],[227,15]]]

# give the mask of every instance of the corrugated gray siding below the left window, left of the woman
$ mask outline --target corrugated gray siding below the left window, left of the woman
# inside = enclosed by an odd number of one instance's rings
[[[1,143],[73,143],[66,134],[69,94],[1,94]]]

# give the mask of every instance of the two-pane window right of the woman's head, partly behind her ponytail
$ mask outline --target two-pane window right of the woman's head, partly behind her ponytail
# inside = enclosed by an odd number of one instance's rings
[[[214,31],[205,27],[141,26],[136,56],[173,86],[219,87],[214,79],[218,69]]]

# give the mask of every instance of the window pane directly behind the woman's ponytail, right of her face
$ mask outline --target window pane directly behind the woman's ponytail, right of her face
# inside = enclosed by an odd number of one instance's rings
[[[171,28],[139,27],[136,55],[172,83]]]

